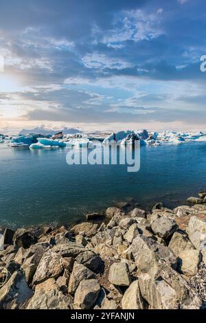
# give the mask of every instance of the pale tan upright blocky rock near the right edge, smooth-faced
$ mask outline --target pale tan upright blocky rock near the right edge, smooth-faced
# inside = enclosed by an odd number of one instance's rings
[[[200,252],[198,250],[185,250],[179,254],[181,258],[181,271],[186,276],[194,276],[198,271],[200,263]]]

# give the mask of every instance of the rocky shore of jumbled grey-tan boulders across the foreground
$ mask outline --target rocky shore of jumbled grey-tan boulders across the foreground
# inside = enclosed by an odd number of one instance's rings
[[[0,309],[203,309],[206,191],[0,235]]]

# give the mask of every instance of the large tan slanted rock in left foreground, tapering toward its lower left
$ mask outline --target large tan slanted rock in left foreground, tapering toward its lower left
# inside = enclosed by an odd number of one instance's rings
[[[33,284],[37,285],[48,278],[58,278],[63,270],[61,259],[60,254],[52,250],[45,252],[34,274]]]

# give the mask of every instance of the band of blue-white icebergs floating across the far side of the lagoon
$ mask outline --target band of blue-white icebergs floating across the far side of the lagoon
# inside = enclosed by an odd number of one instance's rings
[[[53,139],[52,139],[53,138]],[[93,141],[99,140],[102,144],[131,144],[133,145],[136,140],[139,140],[141,146],[159,146],[164,143],[181,144],[184,142],[192,141],[206,141],[206,133],[184,133],[176,131],[163,131],[162,133],[148,132],[146,129],[141,131],[119,131],[112,133],[104,138],[88,137],[84,134],[62,134],[56,135],[16,135],[12,137],[0,135],[0,144],[8,143],[11,147],[29,147],[31,149],[43,149],[43,148],[61,148],[67,147],[87,147],[93,148]]]

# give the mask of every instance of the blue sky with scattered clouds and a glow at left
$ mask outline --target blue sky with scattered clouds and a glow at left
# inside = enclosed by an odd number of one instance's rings
[[[0,129],[206,131],[205,54],[205,0],[1,0]]]

